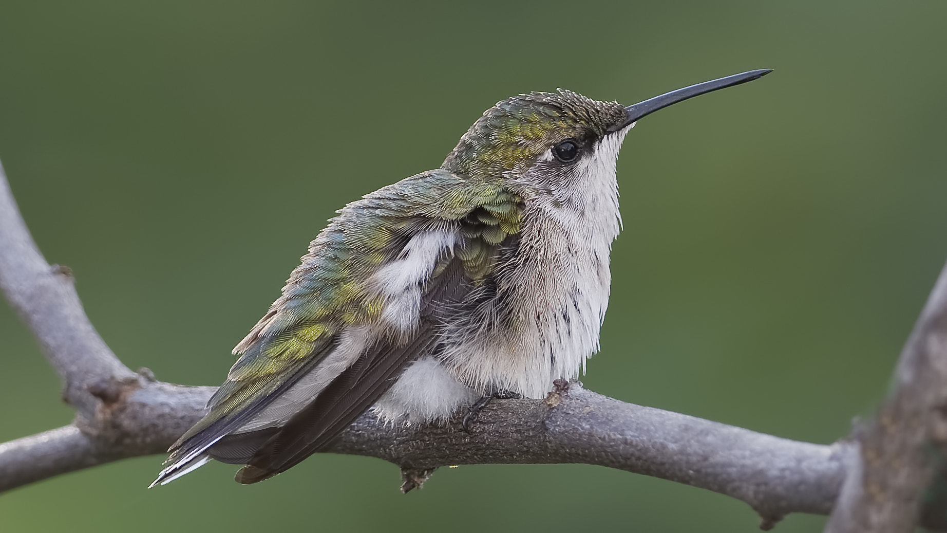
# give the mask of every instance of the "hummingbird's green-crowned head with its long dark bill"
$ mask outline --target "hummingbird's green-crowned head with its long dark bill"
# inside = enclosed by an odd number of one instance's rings
[[[770,69],[697,83],[627,107],[560,89],[499,101],[460,138],[443,168],[527,189],[590,184],[583,177],[615,174],[621,141],[634,122],[704,93],[756,80]]]

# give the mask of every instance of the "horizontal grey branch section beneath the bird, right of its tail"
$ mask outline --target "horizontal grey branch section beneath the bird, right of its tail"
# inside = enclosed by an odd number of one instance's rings
[[[756,509],[764,525],[790,512],[827,514],[851,451],[624,403],[564,382],[545,400],[494,400],[473,434],[458,431],[459,424],[392,431],[368,414],[328,451],[417,471],[496,463],[623,469],[732,496]]]

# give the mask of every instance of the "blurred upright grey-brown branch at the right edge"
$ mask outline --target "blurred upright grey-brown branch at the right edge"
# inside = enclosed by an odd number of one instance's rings
[[[942,461],[932,448],[947,450],[947,266],[904,344],[892,394],[856,438],[826,531],[913,531]]]

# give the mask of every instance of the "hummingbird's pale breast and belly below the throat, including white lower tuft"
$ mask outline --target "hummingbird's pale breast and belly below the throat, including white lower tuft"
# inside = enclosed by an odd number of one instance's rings
[[[599,349],[618,222],[609,210],[595,220],[570,220],[570,214],[547,219],[553,228],[524,230],[494,268],[491,297],[448,324],[438,355],[412,363],[376,412],[445,419],[480,396],[543,398],[555,379],[581,375]]]

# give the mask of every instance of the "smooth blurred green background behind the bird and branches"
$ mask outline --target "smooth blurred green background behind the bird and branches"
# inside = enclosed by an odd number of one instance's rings
[[[829,443],[884,397],[947,259],[947,3],[0,4],[0,156],[51,263],[132,368],[217,384],[332,211],[437,167],[493,102],[644,100],[587,387]],[[0,441],[69,422],[0,308]],[[163,457],[0,496],[4,531],[756,531],[742,503],[583,465],[319,455],[253,487]],[[820,530],[790,516],[777,531]]]

